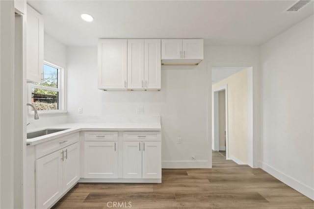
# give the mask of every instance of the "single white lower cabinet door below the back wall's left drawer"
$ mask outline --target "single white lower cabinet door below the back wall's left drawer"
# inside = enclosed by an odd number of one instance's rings
[[[116,141],[85,141],[85,178],[118,178]]]

